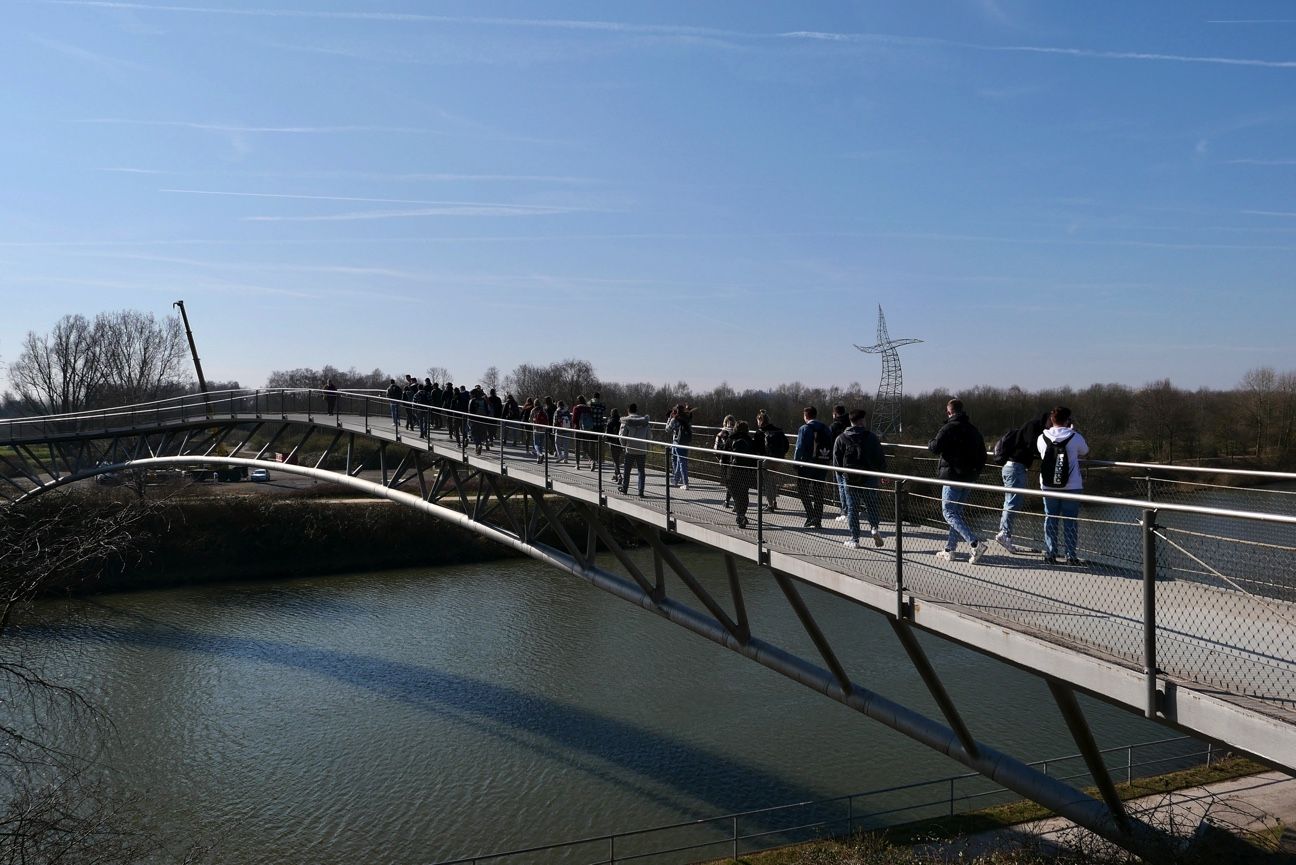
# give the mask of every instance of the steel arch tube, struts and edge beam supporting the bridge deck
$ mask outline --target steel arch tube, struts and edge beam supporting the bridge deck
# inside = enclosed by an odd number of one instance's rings
[[[750,532],[699,520],[689,502],[679,499],[684,493],[669,484],[653,488],[651,498],[618,494],[610,482],[605,485],[608,472],[603,459],[594,464],[594,471],[583,473],[579,456],[575,473],[551,463],[548,456],[537,462],[521,447],[503,446],[509,437],[503,425],[498,427],[502,446],[478,455],[467,438],[454,441],[433,429],[426,434],[402,431],[402,415],[398,412],[393,420],[386,401],[372,397],[343,397],[338,414],[316,411],[312,406],[323,406],[324,397],[314,393],[290,398],[280,394],[277,406],[263,394],[240,393],[216,399],[215,405],[209,397],[113,415],[19,421],[8,431],[0,427],[0,485],[5,488],[0,497],[17,506],[80,480],[124,471],[272,464],[277,472],[386,498],[584,580],[877,720],[1131,849],[1155,847],[1156,833],[1121,804],[1077,700],[1078,693],[1296,768],[1292,726],[1274,713],[1256,712],[1245,700],[1239,704],[1214,699],[1205,689],[1183,687],[1164,676],[1155,661],[1138,669],[1059,645],[1036,629],[1006,632],[1002,622],[921,597],[914,590],[918,581],[905,576],[905,490],[919,479],[896,479],[896,578],[892,585],[876,585],[780,550],[771,539],[776,530],[774,515],[757,511],[757,532],[752,538]],[[601,437],[591,440],[595,447],[591,453],[604,455],[607,442]],[[362,451],[368,454],[363,459]],[[283,462],[271,463],[276,454]],[[308,463],[303,462],[307,454]],[[772,463],[778,460],[771,460],[769,471],[778,468]],[[586,468],[590,467],[587,463]],[[618,541],[625,538],[627,527],[636,542],[651,550],[651,572]],[[1153,528],[1148,516],[1144,541]],[[680,562],[667,543],[671,534],[709,551],[713,567],[728,577],[727,597],[709,591]],[[814,646],[813,656],[766,638],[762,622],[753,620],[744,603],[736,567],[740,559],[761,564],[778,584]],[[942,718],[925,717],[866,687],[862,677],[841,663],[833,641],[816,622],[802,595],[804,585],[881,612]],[[1155,590],[1155,582],[1146,585]],[[980,742],[919,643],[919,630],[1042,677],[1086,759],[1099,798]]]

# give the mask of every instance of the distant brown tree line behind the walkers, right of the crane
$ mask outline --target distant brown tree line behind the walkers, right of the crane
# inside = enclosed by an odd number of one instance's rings
[[[381,390],[393,377],[403,380],[404,373],[298,368],[271,373],[267,386],[318,388],[329,377],[343,389]],[[442,385],[455,381],[446,367],[430,367],[425,377]],[[844,388],[792,381],[744,390],[727,384],[693,390],[687,381],[605,381],[596,375],[592,363],[574,358],[550,364],[524,363],[507,375],[489,367],[482,376],[455,384],[496,388],[502,396],[512,393],[520,402],[526,397],[550,396],[570,403],[577,396],[588,398],[597,392],[607,405],[625,407],[634,402],[654,420],[664,420],[673,406],[687,403],[696,406],[695,423],[704,425],[719,425],[724,415],[752,421],[756,412],[765,409],[789,432],[801,424],[805,406],[816,406],[820,416],[826,416],[836,405],[844,405],[848,411],[872,412],[875,401],[858,381]],[[1251,370],[1231,390],[1188,390],[1174,386],[1169,379],[1138,388],[1093,384],[1080,390],[1067,385],[1042,390],[981,385],[959,393],[933,389],[902,397],[903,424],[892,441],[925,445],[945,423],[945,403],[955,396],[967,405],[988,445],[1008,429],[1064,405],[1072,410],[1077,428],[1094,442],[1094,455],[1103,459],[1182,463],[1247,458],[1274,467],[1296,464],[1296,371]]]

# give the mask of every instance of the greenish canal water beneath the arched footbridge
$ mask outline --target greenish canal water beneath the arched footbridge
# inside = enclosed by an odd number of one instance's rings
[[[769,575],[740,573],[754,633],[816,658]],[[805,591],[855,681],[940,717],[884,619]],[[22,639],[111,720],[67,744],[96,747],[110,787],[220,862],[432,862],[963,770],[530,560],[38,613]],[[1024,759],[1076,750],[1042,682],[924,645],[978,738]],[[1170,735],[1083,704],[1100,746]]]

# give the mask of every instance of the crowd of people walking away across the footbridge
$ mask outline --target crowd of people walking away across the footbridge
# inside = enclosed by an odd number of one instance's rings
[[[337,388],[329,380],[325,386],[329,414],[336,411]],[[426,437],[432,429],[446,429],[450,437],[467,447],[470,442],[477,454],[490,450],[503,436],[504,442],[526,449],[537,462],[552,459],[557,463],[579,460],[583,455],[590,468],[596,471],[603,463],[604,447],[610,450],[613,481],[621,493],[630,492],[631,479],[638,480],[638,494],[644,495],[647,480],[645,462],[648,442],[652,440],[652,421],[639,411],[636,403],[610,411],[600,394],[591,398],[578,396],[569,406],[551,397],[530,397],[518,403],[513,394],[499,397],[494,388],[476,385],[445,385],[430,379],[419,381],[404,376],[400,384],[391,379],[386,396],[391,421],[406,429],[417,429]],[[679,403],[670,410],[664,432],[670,441],[667,451],[669,482],[688,489],[689,447],[693,446],[693,412],[696,406]],[[986,464],[985,438],[972,424],[962,399],[950,399],[945,407],[946,423],[928,444],[928,450],[940,456],[937,477],[955,482],[977,482]],[[503,423],[500,423],[503,421]],[[858,549],[867,521],[868,537],[875,546],[884,546],[879,520],[877,477],[842,469],[885,472],[886,456],[877,436],[868,428],[868,414],[862,410],[848,412],[837,405],[832,410],[831,424],[818,418],[815,406],[802,410],[802,424],[797,429],[794,446],[788,436],[775,425],[762,409],[757,412],[754,428],[745,420],[726,415],[712,442],[718,454],[719,480],[724,488],[724,507],[732,508],[739,528],[749,525],[752,489],[759,486],[757,504],[771,512],[778,511],[781,479],[788,472],[779,466],[769,466],[757,472],[761,456],[785,459],[792,450],[797,497],[805,511],[806,528],[822,528],[824,498],[829,484],[836,488],[841,516],[849,538],[845,546]],[[581,434],[604,433],[604,436]],[[1028,472],[1041,459],[1041,485],[1060,493],[1078,493],[1083,488],[1080,460],[1089,454],[1083,436],[1076,432],[1070,410],[1058,406],[1042,416],[1029,420],[1020,429],[1010,432],[997,450],[1003,450],[1002,480],[1008,489],[1003,498],[998,533],[994,541],[1008,552],[1017,552],[1013,525],[1025,502],[1016,490],[1026,485]],[[941,515],[949,527],[945,547],[936,552],[938,559],[954,562],[958,545],[971,547],[968,562],[976,564],[985,555],[986,543],[972,529],[964,516],[967,498],[972,490],[966,486],[941,486]],[[1045,562],[1056,564],[1083,564],[1077,552],[1080,502],[1046,495],[1045,504]],[[1059,533],[1061,546],[1059,547]]]

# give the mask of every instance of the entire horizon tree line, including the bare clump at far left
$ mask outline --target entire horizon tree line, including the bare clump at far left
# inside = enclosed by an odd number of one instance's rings
[[[156,319],[149,313],[122,310],[93,319],[65,315],[47,335],[29,332],[17,358],[8,366],[10,390],[0,414],[62,414],[83,409],[121,406],[179,396],[194,389],[180,320]],[[332,380],[341,389],[385,389],[404,371],[359,371],[333,366],[276,370],[267,388],[319,388]],[[846,386],[810,386],[800,381],[774,388],[735,390],[719,384],[693,390],[687,381],[604,381],[590,361],[566,358],[547,364],[522,363],[502,373],[487,367],[476,379],[456,380],[442,366],[424,370],[422,377],[481,384],[518,402],[551,396],[569,403],[579,394],[603,394],[609,406],[634,402],[654,419],[665,419],[678,403],[697,407],[699,424],[718,425],[724,415],[752,420],[765,409],[775,423],[794,431],[801,409],[814,405],[824,415],[835,405],[874,410],[874,396],[858,381]],[[214,381],[213,389],[237,388],[237,381]],[[925,444],[945,421],[945,403],[958,396],[988,444],[1048,409],[1065,405],[1076,424],[1095,445],[1095,455],[1129,462],[1192,462],[1249,458],[1265,466],[1296,463],[1296,371],[1258,367],[1248,371],[1231,390],[1177,388],[1169,379],[1142,386],[1093,384],[1025,390],[1016,385],[981,385],[951,393],[933,389],[902,398],[901,431],[892,440]]]

